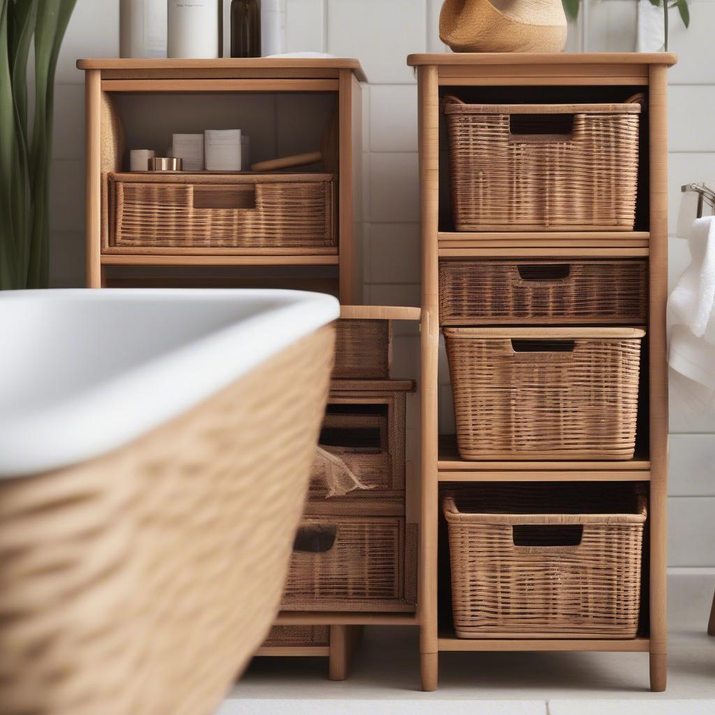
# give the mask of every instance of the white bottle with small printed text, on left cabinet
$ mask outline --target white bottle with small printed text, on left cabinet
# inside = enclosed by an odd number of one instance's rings
[[[167,56],[192,59],[219,56],[217,0],[167,0],[167,14]]]

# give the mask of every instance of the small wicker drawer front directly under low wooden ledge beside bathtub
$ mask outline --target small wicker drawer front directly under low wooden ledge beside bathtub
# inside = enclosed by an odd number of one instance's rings
[[[338,320],[334,378],[390,377],[390,321]]]

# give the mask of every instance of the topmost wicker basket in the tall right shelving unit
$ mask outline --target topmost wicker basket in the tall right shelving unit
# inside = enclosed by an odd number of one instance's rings
[[[635,99],[495,105],[447,97],[456,230],[633,230]]]

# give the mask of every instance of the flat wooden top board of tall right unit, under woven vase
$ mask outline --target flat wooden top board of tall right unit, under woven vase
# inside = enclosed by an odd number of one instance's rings
[[[407,64],[481,65],[481,64],[676,64],[672,52],[439,52],[410,54]]]

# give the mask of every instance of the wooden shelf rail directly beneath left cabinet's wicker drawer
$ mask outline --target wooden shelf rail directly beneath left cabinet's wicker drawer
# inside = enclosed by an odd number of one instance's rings
[[[103,253],[103,266],[307,266],[338,265],[332,255],[156,255]]]

